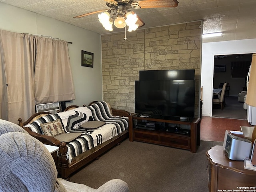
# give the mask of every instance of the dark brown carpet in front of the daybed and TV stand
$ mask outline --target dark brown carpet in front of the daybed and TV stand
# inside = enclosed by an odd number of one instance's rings
[[[201,141],[189,150],[124,140],[99,160],[70,177],[71,182],[98,188],[108,180],[127,182],[130,192],[207,192],[206,151],[222,142]]]

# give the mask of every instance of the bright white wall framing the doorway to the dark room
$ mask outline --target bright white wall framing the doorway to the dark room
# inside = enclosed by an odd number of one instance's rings
[[[255,45],[256,39],[203,43],[201,72],[203,116],[212,116],[214,55],[256,53]]]

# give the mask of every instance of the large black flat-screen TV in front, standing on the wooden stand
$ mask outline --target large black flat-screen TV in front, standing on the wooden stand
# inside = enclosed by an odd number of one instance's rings
[[[195,80],[135,81],[135,112],[194,118]]]

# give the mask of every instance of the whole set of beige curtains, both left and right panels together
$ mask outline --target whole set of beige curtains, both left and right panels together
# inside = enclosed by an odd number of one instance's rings
[[[67,42],[0,30],[0,118],[18,123],[37,103],[74,99]]]

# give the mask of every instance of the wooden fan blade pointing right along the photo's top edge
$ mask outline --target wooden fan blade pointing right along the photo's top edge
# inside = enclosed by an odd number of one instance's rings
[[[142,0],[134,1],[131,3],[132,8],[158,8],[158,7],[176,7],[178,6],[177,0]]]

